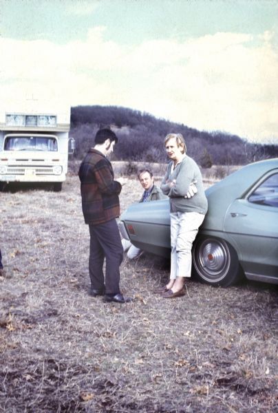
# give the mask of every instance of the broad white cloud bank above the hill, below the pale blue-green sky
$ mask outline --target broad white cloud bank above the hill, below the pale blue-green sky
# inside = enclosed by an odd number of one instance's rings
[[[278,138],[275,35],[217,33],[130,47],[105,41],[0,38],[0,96],[63,97],[71,105],[122,105],[204,130]]]

